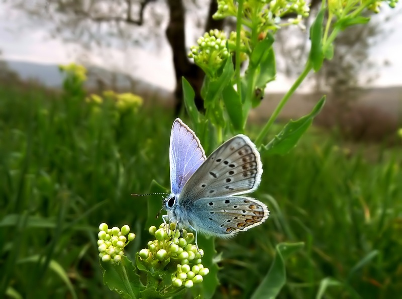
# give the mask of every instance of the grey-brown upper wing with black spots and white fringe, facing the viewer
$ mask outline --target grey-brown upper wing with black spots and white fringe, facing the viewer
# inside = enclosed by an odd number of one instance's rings
[[[223,143],[195,171],[180,194],[183,206],[200,198],[227,197],[257,189],[262,163],[254,143],[239,134]]]

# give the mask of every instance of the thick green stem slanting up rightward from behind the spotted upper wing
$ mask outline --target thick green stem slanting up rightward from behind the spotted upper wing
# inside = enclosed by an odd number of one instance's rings
[[[310,60],[308,60],[306,63],[305,69],[303,70],[303,73],[300,74],[300,76],[298,76],[297,80],[293,83],[293,85],[290,87],[288,92],[286,92],[286,94],[280,100],[279,104],[276,106],[275,110],[269,117],[267,123],[264,125],[261,132],[258,134],[257,139],[255,140],[255,144],[257,145],[257,147],[259,147],[262,144],[264,137],[268,134],[268,131],[271,128],[276,117],[279,115],[280,111],[283,109],[284,105],[287,103],[289,98],[296,91],[296,89],[299,87],[299,85],[304,81],[304,79],[307,77],[307,75],[310,73],[310,71],[312,69],[313,69],[313,64],[310,62]]]

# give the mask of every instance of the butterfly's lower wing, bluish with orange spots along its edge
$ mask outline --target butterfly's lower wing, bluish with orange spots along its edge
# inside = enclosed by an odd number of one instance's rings
[[[198,199],[187,213],[189,224],[197,231],[224,238],[260,225],[269,216],[266,205],[245,196]]]

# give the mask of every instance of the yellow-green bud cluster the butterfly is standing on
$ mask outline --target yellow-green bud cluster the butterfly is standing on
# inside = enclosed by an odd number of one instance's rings
[[[194,235],[185,230],[177,230],[175,223],[171,223],[168,229],[166,226],[163,223],[159,229],[155,226],[149,228],[155,240],[148,242],[148,248],[140,250],[140,258],[150,266],[175,264],[177,269],[171,275],[172,285],[175,287],[192,287],[195,283],[202,282],[209,269],[202,264],[203,250],[198,250],[192,244]]]

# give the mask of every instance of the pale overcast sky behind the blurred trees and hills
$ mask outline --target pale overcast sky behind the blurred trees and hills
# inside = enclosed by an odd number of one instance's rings
[[[35,1],[35,0],[32,0]],[[399,6],[400,7],[400,6]],[[402,85],[402,9],[382,9],[380,15],[397,15],[387,23],[387,28],[393,29],[388,37],[371,49],[371,59],[376,62],[389,61],[390,66],[380,70],[380,77],[371,86]],[[199,34],[199,33],[198,33]],[[191,40],[194,30],[188,28],[187,36]],[[108,53],[87,53],[93,64],[126,71],[135,77],[166,88],[174,89],[174,73],[171,61],[171,50],[167,41],[161,40],[161,48],[143,50],[132,48],[128,51],[110,50]],[[11,10],[5,3],[0,2],[0,50],[5,59],[39,62],[45,64],[64,64],[72,62],[77,50],[82,53],[79,45],[65,44],[61,39],[51,38],[47,24],[32,22],[21,13]],[[270,83],[270,90],[283,91],[292,80],[278,74],[277,80]]]

